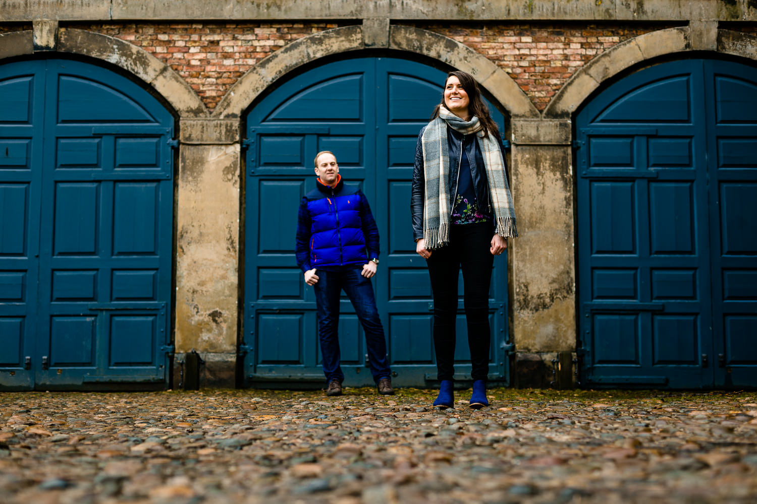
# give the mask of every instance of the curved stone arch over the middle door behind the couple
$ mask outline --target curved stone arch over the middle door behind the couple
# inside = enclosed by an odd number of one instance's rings
[[[241,76],[213,111],[217,118],[241,116],[242,112],[276,79],[298,66],[331,54],[384,47],[413,52],[443,61],[470,73],[508,110],[511,116],[537,118],[539,112],[504,70],[468,46],[435,32],[411,26],[389,26],[384,45],[365,42],[363,26],[328,29],[299,39],[261,60]]]

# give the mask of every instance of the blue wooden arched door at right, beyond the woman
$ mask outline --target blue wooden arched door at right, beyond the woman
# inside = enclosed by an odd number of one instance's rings
[[[757,384],[757,70],[652,66],[576,128],[585,383]]]

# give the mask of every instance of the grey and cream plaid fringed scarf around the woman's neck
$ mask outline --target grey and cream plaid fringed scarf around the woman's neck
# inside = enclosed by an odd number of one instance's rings
[[[512,206],[505,176],[505,162],[494,135],[481,138],[484,127],[473,116],[464,121],[444,107],[439,107],[439,116],[428,123],[422,136],[423,176],[425,198],[423,202],[423,239],[426,249],[438,249],[450,243],[450,153],[447,144],[447,126],[463,135],[477,133],[476,140],[484,158],[484,168],[491,191],[497,234],[500,237],[517,237],[516,212]],[[461,147],[462,148],[462,147]]]

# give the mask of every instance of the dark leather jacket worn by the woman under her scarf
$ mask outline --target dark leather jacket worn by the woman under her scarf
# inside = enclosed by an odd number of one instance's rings
[[[410,212],[413,216],[413,240],[419,240],[423,237],[423,199],[425,198],[425,178],[423,176],[423,131],[425,126],[418,134],[418,143],[416,144],[416,159],[413,167],[413,193],[410,196]],[[497,142],[502,150],[502,159],[505,159],[505,150],[499,137]],[[489,181],[484,169],[484,158],[481,156],[481,149],[475,140],[475,135],[463,135],[453,128],[447,128],[447,146],[450,151],[450,180],[448,187],[450,193],[456,190],[457,168],[459,166],[460,156],[463,149],[466,151],[468,159],[475,159],[471,163],[471,175],[473,177],[473,186],[475,187],[475,197],[478,207],[491,211],[491,192],[489,190]],[[505,172],[506,173],[506,172]],[[453,194],[450,194],[450,212],[452,211]],[[492,230],[494,230],[494,219],[492,219]]]

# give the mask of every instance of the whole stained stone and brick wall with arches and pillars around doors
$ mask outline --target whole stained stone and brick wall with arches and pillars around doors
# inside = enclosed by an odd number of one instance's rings
[[[205,358],[203,385],[223,386],[235,385],[239,337],[245,109],[304,63],[347,52],[422,54],[472,73],[511,120],[522,231],[509,252],[512,383],[544,386],[553,359],[576,347],[572,114],[607,79],[654,58],[710,51],[757,59],[753,4],[5,0],[0,58],[47,51],[101,60],[173,110],[173,338],[179,356],[195,349]]]

